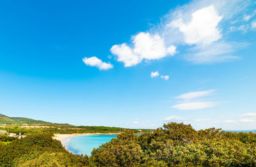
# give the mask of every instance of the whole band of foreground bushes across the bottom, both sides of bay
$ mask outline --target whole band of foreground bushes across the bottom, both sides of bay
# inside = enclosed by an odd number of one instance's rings
[[[0,145],[2,166],[256,166],[256,134],[221,129],[195,131],[164,124],[140,136],[125,131],[94,149],[92,156],[67,152],[51,134],[31,134]]]

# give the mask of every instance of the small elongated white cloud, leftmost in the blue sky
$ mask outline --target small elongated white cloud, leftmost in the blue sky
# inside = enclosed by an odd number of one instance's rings
[[[113,68],[113,65],[107,62],[102,62],[100,59],[97,57],[84,57],[83,58],[84,64],[87,66],[94,66],[99,68],[100,70],[107,70]]]

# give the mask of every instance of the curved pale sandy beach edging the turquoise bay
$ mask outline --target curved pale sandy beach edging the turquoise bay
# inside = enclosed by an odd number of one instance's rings
[[[54,134],[53,139],[59,140],[63,147],[67,150],[68,141],[75,136],[86,136],[86,135],[118,135],[121,133],[73,133],[73,134]]]

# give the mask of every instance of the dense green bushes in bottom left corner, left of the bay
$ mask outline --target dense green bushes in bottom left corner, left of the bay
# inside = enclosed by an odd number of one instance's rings
[[[49,133],[30,134],[8,145],[0,145],[0,166],[84,166],[84,159],[86,156],[65,150]]]

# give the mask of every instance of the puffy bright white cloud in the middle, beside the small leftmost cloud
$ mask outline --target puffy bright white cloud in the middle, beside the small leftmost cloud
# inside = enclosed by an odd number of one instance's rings
[[[127,46],[126,43],[113,45],[110,51],[116,55],[117,61],[124,62],[125,67],[134,66],[145,60],[156,60],[174,55],[176,47],[169,45],[166,47],[164,39],[158,34],[141,32],[132,37],[133,47]]]

